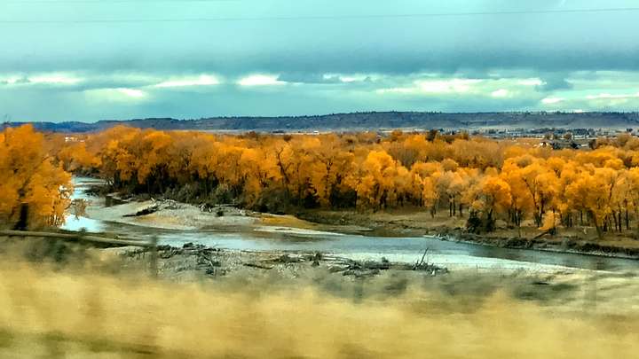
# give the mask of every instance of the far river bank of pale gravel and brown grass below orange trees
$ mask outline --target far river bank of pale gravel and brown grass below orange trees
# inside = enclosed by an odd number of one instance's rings
[[[89,185],[83,183],[90,183]],[[386,212],[358,212],[349,210],[306,210],[294,215],[272,215],[232,206],[198,207],[171,200],[131,200],[106,207],[104,199],[85,196],[83,190],[95,185],[95,180],[82,179],[75,196],[89,201],[86,216],[76,221],[70,216],[67,229],[79,230],[84,222],[110,222],[135,225],[154,230],[183,230],[191,233],[261,233],[261,236],[292,238],[333,238],[356,235],[376,238],[437,238],[496,248],[527,249],[558,254],[588,254],[602,257],[639,258],[639,241],[610,233],[604,241],[596,240],[595,229],[580,227],[562,229],[556,236],[538,237],[530,223],[519,230],[508,228],[498,221],[492,233],[476,235],[464,230],[465,218],[430,214],[419,208]],[[152,210],[149,210],[152,209]],[[143,232],[143,230],[140,230]],[[153,233],[150,230],[149,233]],[[196,238],[193,238],[196,241]],[[185,243],[185,242],[182,242]],[[182,244],[180,243],[180,245]]]

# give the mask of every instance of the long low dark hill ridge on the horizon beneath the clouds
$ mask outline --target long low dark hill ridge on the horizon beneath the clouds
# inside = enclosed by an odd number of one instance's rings
[[[20,125],[12,122],[11,126]],[[333,113],[317,116],[150,118],[122,121],[33,122],[36,129],[90,132],[126,125],[140,129],[323,131],[366,129],[639,129],[639,113]]]

